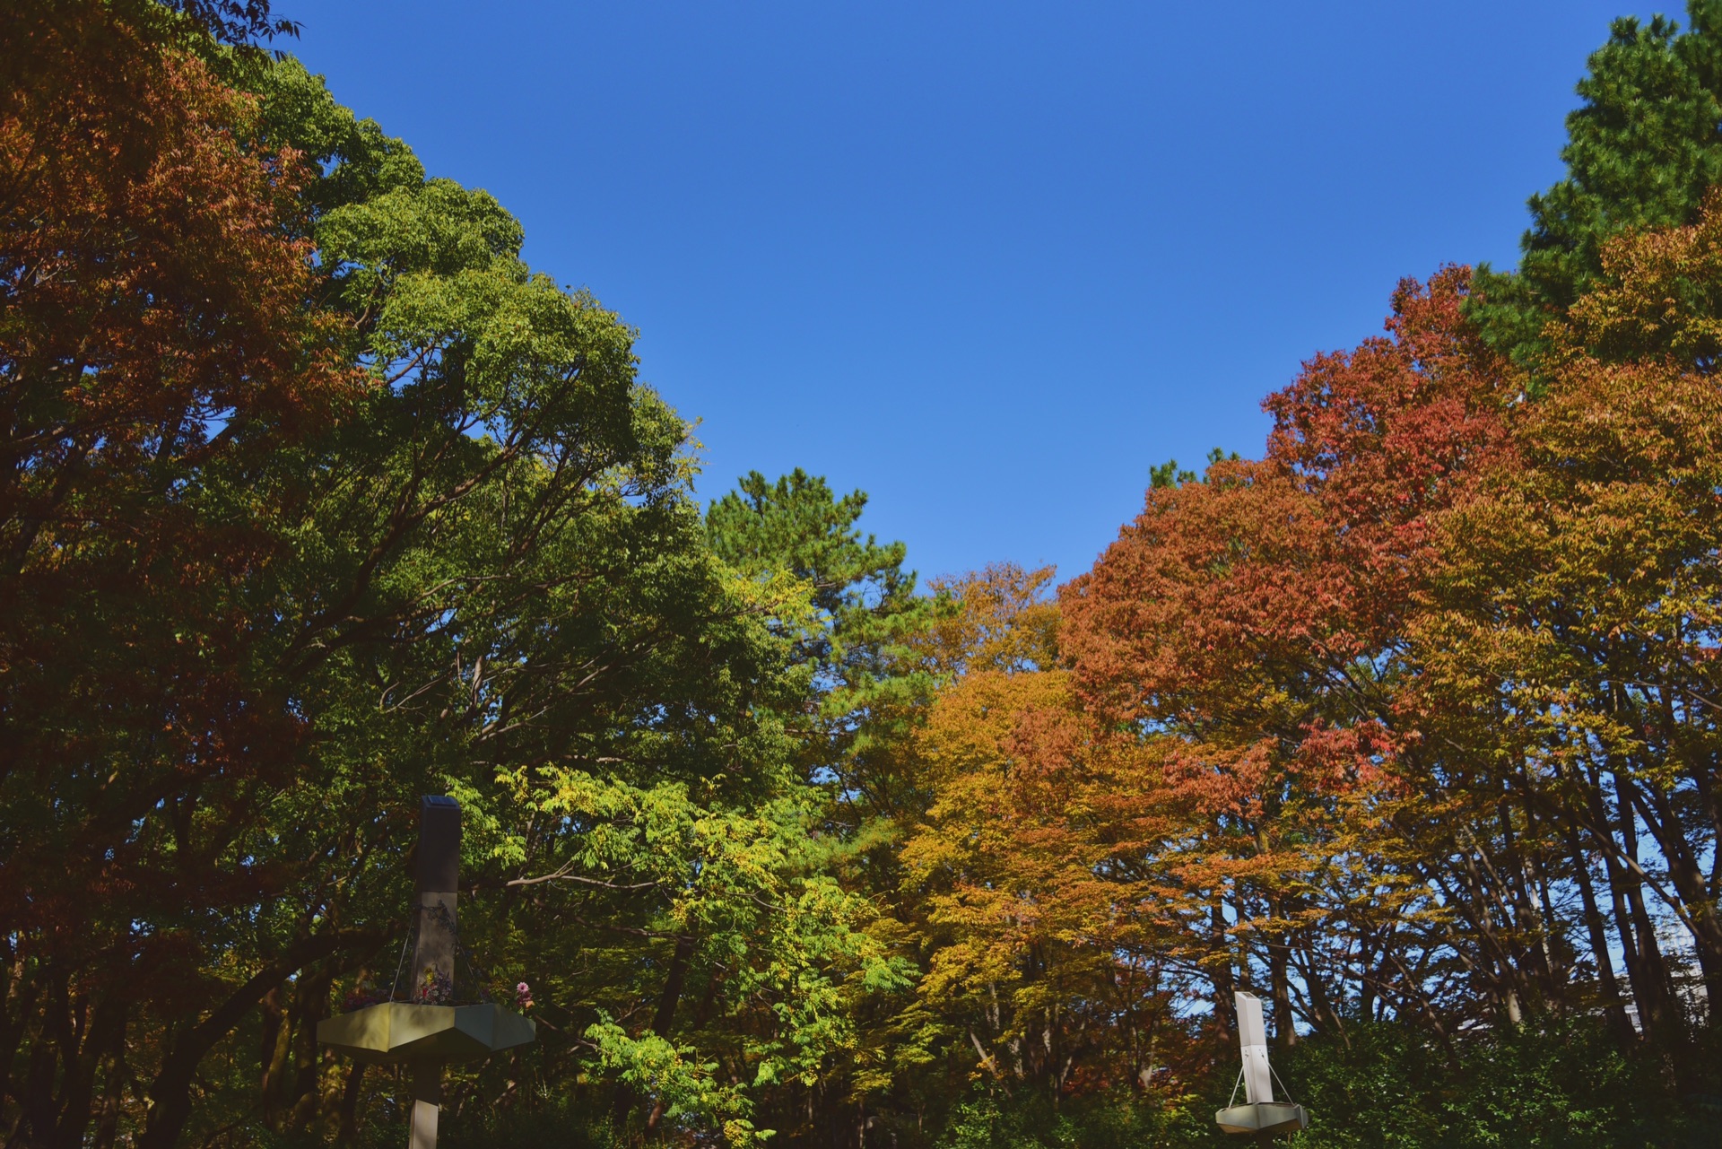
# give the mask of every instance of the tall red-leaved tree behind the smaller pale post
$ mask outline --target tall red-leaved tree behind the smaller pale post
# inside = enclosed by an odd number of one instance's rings
[[[1384,338],[1312,358],[1264,403],[1264,460],[1150,489],[1061,599],[1085,703],[1166,746],[1164,798],[1195,837],[1162,865],[1209,903],[1221,1003],[1259,939],[1283,1040],[1293,973],[1310,1020],[1340,1023],[1355,954],[1314,927],[1336,911],[1322,892],[1341,892],[1345,804],[1417,742],[1391,675],[1429,515],[1502,450],[1508,396],[1460,317],[1467,283],[1446,269],[1402,284]]]

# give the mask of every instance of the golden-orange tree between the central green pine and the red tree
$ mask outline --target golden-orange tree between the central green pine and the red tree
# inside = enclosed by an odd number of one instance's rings
[[[1140,1089],[1185,1053],[1178,922],[1138,865],[1164,834],[1157,763],[1076,705],[1050,582],[1011,563],[935,581],[952,608],[914,643],[945,686],[897,751],[923,803],[895,815],[887,896],[923,978],[880,1039],[892,1070],[861,1077],[904,1104],[966,1077]]]

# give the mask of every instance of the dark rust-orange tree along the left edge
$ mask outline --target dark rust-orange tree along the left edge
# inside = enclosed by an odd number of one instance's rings
[[[31,1144],[112,1142],[131,1003],[195,985],[201,916],[272,885],[215,865],[300,737],[245,596],[281,555],[250,479],[358,377],[305,307],[298,158],[184,36],[0,16],[0,1075],[26,1042]]]

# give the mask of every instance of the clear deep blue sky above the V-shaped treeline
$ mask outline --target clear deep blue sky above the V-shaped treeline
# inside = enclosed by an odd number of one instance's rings
[[[276,7],[639,327],[703,498],[799,465],[923,577],[1068,579],[1398,277],[1515,262],[1626,2]]]

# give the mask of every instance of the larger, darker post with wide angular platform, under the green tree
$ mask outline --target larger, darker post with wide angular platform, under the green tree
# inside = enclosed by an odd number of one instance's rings
[[[460,1004],[455,984],[460,892],[460,803],[427,794],[418,804],[418,932],[408,977],[408,1001],[389,1001],[317,1023],[319,1044],[356,1061],[405,1065],[412,1071],[413,1108],[408,1149],[436,1149],[443,1104],[443,1066],[525,1046],[537,1034],[530,1018],[494,1001]]]

